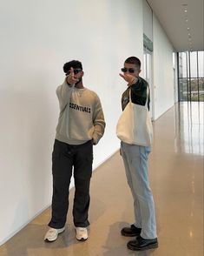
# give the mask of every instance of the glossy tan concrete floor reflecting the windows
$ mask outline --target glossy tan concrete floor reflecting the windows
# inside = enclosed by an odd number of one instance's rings
[[[203,103],[176,104],[154,124],[155,145],[149,178],[155,197],[159,248],[132,252],[120,235],[132,223],[133,202],[116,152],[98,167],[91,183],[89,239],[75,239],[71,211],[66,231],[44,243],[50,209],[0,247],[1,256],[202,256],[203,255]],[[70,192],[73,200],[74,189]],[[72,204],[70,205],[72,208]]]

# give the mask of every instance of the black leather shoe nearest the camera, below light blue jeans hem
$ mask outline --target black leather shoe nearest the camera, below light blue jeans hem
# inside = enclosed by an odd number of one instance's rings
[[[135,240],[131,240],[127,244],[128,249],[133,251],[142,251],[148,249],[154,249],[158,247],[157,239],[142,239],[141,236],[136,237]]]

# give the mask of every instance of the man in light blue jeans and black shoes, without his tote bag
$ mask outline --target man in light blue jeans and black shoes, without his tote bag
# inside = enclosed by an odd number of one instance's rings
[[[148,83],[139,76],[141,61],[137,57],[128,57],[125,60],[120,76],[128,83],[128,89],[122,94],[122,111],[129,101],[145,105],[149,91]],[[136,120],[140,122],[140,120]],[[155,223],[155,203],[148,181],[148,154],[149,146],[129,145],[122,141],[121,154],[124,162],[128,185],[134,199],[135,223],[122,228],[122,235],[136,237],[127,244],[130,250],[147,250],[158,246]]]

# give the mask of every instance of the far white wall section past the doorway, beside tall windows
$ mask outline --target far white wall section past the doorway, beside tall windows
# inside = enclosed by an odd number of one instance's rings
[[[174,105],[173,47],[161,24],[153,16],[153,69],[155,119]]]

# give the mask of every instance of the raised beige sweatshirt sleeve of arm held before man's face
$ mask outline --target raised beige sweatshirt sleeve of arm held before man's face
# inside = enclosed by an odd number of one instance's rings
[[[60,111],[62,112],[67,104],[69,104],[71,96],[71,87],[67,84],[66,80],[56,88],[56,96],[59,100]]]

